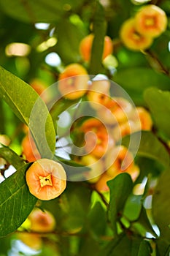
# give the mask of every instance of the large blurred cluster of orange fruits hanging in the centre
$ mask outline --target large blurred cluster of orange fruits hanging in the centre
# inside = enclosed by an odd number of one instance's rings
[[[139,167],[128,148],[119,143],[132,132],[152,129],[150,113],[142,107],[134,108],[123,97],[111,97],[110,87],[109,80],[93,78],[87,99],[95,117],[80,122],[78,128],[85,136],[85,145],[84,156],[77,161],[91,168],[86,179],[100,192],[108,190],[107,181],[119,173],[127,172],[136,179]]]

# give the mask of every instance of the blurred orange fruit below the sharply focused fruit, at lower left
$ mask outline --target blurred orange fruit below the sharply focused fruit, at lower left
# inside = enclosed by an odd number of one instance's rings
[[[28,216],[28,220],[31,222],[31,231],[46,233],[55,229],[55,218],[50,211],[42,211],[39,208],[35,208]]]

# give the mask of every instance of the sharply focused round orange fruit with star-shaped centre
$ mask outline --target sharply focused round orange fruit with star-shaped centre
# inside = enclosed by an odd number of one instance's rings
[[[66,189],[66,172],[58,162],[38,159],[26,171],[26,183],[32,195],[51,200]]]

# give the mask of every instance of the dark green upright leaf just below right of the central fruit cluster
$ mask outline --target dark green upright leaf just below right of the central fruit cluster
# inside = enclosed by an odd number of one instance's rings
[[[116,222],[121,215],[125,202],[131,194],[133,181],[128,173],[121,173],[111,181],[107,182],[110,189],[109,217],[112,223],[112,229],[117,234]]]

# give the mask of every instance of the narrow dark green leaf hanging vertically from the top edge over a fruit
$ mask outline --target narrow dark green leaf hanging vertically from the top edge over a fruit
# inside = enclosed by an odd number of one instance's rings
[[[104,37],[106,35],[107,23],[104,16],[104,9],[99,1],[94,7],[93,20],[93,45],[90,56],[90,74],[97,75],[102,72],[102,55],[104,50]]]

